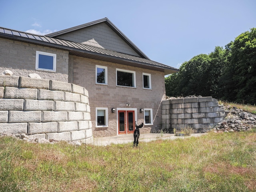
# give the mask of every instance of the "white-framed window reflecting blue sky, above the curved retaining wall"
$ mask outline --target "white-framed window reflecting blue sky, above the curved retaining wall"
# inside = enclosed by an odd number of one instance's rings
[[[56,72],[56,54],[36,51],[36,70]]]

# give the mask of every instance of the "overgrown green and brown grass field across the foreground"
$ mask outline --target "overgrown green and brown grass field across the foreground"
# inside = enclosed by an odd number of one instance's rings
[[[111,146],[0,137],[0,192],[256,191],[256,128]]]

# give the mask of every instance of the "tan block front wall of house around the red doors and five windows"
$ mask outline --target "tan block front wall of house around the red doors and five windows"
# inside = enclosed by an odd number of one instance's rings
[[[144,113],[140,108],[152,108],[153,125],[144,125],[141,133],[150,133],[161,128],[161,101],[165,98],[164,73],[130,67],[110,62],[86,59],[70,56],[72,66],[70,73],[73,75],[71,83],[86,87],[89,92],[91,120],[93,135],[116,136],[117,134],[117,111],[112,113],[111,108],[136,108],[138,122],[144,122]],[[96,84],[95,66],[108,67],[108,85]],[[136,72],[136,88],[116,86],[116,68]],[[151,74],[152,90],[143,89],[142,74]],[[130,107],[126,106],[130,104]],[[108,108],[108,127],[95,128],[96,107]]]

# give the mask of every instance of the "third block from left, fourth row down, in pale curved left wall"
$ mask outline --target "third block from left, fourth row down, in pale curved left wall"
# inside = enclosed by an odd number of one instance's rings
[[[42,122],[66,120],[68,120],[66,111],[42,111]]]

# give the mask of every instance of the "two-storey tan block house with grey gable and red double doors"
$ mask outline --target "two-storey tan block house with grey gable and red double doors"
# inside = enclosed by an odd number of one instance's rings
[[[88,90],[93,136],[161,128],[164,76],[178,69],[150,60],[108,18],[45,36],[0,27],[0,72],[36,73]]]

